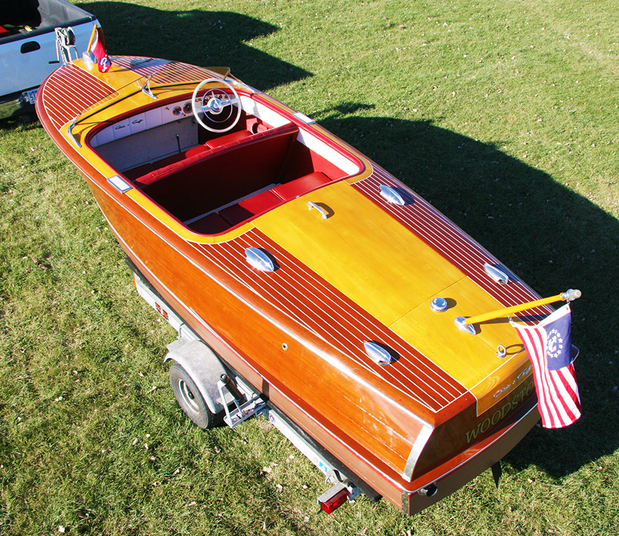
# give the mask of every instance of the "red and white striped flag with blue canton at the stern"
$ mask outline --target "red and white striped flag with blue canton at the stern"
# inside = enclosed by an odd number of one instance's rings
[[[544,428],[563,428],[580,417],[580,396],[572,346],[572,311],[569,303],[537,325],[510,322],[516,328],[533,363],[533,378]]]

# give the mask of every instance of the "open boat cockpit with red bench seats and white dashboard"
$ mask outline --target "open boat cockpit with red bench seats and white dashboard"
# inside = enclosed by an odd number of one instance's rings
[[[107,122],[87,143],[134,188],[209,235],[362,170],[358,158],[305,127],[307,116],[237,89],[203,81],[184,98]]]

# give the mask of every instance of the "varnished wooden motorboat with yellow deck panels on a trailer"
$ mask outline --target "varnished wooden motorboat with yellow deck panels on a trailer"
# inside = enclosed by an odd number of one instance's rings
[[[153,292],[369,495],[420,511],[539,420],[507,321],[455,325],[537,294],[307,116],[127,56],[63,65],[36,109]]]

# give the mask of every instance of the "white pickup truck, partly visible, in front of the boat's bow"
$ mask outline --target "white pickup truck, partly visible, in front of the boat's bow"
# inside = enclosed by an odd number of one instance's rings
[[[86,52],[96,17],[66,0],[14,0],[0,10],[0,119],[34,109],[39,85],[61,65],[56,28]],[[74,36],[74,37],[73,37]]]

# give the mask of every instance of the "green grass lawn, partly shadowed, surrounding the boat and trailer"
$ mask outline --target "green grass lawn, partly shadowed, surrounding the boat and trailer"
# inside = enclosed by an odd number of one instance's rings
[[[0,123],[0,535],[615,535],[619,7],[608,0],[79,3],[111,54],[229,65],[573,305],[583,417],[534,429],[415,517],[326,486],[257,418],[202,431],[87,186],[34,116]]]

